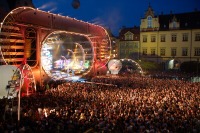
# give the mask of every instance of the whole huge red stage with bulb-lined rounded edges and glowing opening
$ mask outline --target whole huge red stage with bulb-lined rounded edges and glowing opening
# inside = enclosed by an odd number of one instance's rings
[[[0,63],[18,67],[26,60],[40,83],[94,76],[110,54],[103,27],[68,16],[18,7],[0,24]]]

